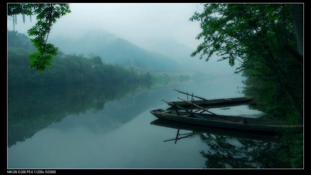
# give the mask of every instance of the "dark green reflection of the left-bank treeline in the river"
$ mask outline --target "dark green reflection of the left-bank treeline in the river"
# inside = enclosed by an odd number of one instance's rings
[[[97,113],[104,109],[105,103],[119,100],[144,85],[100,84],[9,90],[7,146],[31,138],[67,115],[79,115],[88,110]]]

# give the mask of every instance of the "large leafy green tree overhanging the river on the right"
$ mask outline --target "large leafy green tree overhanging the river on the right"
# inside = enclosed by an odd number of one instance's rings
[[[238,61],[237,72],[252,70],[283,90],[302,121],[303,51],[298,52],[296,36],[303,30],[295,32],[293,24],[301,22],[293,19],[290,4],[204,4],[203,12],[190,18],[201,22],[197,39],[203,39],[191,56],[201,54],[208,61],[216,54],[231,66]]]

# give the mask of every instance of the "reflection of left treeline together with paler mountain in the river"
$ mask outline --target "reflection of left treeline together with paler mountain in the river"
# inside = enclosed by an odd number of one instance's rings
[[[162,104],[161,99],[154,100],[159,93],[175,93],[171,87],[166,90],[163,87],[138,89],[138,85],[105,84],[10,90],[8,147],[31,138],[52,123],[58,123],[53,127],[86,126],[94,130],[112,130],[149,110],[155,103]],[[67,118],[68,121],[62,124]]]

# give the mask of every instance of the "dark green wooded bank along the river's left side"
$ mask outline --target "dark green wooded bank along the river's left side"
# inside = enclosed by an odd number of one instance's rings
[[[33,51],[30,39],[16,31],[8,31],[7,85],[11,87],[45,87],[100,83],[151,83],[149,72],[137,74],[122,66],[105,64],[99,56],[86,58],[83,54],[59,55],[52,66],[38,73],[29,69],[26,59]]]

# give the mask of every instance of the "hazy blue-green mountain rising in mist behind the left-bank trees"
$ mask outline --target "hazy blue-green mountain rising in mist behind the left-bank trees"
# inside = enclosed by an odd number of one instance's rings
[[[92,31],[79,38],[51,38],[54,44],[65,54],[99,55],[104,63],[118,64],[128,69],[142,71],[178,71],[180,63],[156,52],[142,49],[116,35]]]

